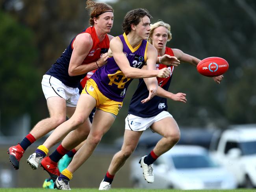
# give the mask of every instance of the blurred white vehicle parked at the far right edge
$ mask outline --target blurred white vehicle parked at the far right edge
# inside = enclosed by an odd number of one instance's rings
[[[256,124],[216,132],[210,154],[234,175],[239,186],[256,188]]]

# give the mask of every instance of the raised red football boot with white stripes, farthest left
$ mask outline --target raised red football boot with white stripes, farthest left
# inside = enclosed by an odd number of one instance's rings
[[[7,150],[7,153],[10,154],[9,160],[16,170],[19,169],[20,159],[23,156],[24,152],[25,151],[22,149],[20,144],[12,146]]]

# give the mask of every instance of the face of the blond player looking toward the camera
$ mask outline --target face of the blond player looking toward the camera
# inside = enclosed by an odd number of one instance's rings
[[[152,44],[156,49],[161,50],[165,48],[167,40],[168,40],[167,28],[160,26],[154,29],[154,32],[152,34]]]

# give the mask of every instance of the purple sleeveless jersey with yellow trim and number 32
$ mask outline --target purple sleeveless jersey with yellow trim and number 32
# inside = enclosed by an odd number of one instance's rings
[[[125,33],[118,37],[123,44],[123,52],[126,55],[130,66],[142,68],[147,60],[148,42],[142,40],[136,48],[132,48]],[[104,96],[117,102],[122,102],[128,85],[132,81],[132,79],[127,79],[124,76],[113,57],[109,57],[108,63],[96,70],[91,78],[96,82],[98,89]]]

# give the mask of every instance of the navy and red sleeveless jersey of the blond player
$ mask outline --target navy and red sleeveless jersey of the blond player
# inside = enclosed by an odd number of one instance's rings
[[[165,54],[174,56],[173,50],[169,47],[165,48]],[[168,90],[172,74],[174,70],[174,66],[167,66],[163,64],[156,64],[157,69],[162,69],[168,67],[171,71],[168,78],[157,78],[158,85]],[[161,113],[162,111],[167,111],[167,99],[162,98],[159,96],[154,96],[151,100],[149,100],[147,103],[141,103],[141,100],[148,97],[148,89],[143,79],[139,79],[139,85],[137,89],[135,90],[134,95],[132,96],[132,100],[130,102],[129,114],[133,114],[135,116],[139,116],[142,118],[148,118],[152,116],[156,116],[157,114]]]

